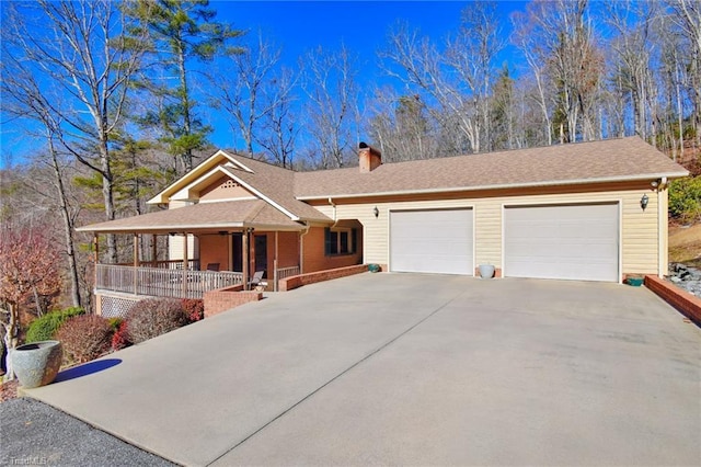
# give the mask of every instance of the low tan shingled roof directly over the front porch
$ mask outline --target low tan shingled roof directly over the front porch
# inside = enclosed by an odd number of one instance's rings
[[[102,234],[215,232],[220,230],[297,231],[304,226],[291,220],[262,200],[199,203],[175,209],[142,214],[79,227],[78,231]]]

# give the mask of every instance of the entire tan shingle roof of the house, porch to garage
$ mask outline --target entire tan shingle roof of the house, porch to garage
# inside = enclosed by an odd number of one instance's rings
[[[300,200],[654,180],[688,174],[639,137],[387,163],[368,173],[361,173],[357,167],[294,172],[229,152],[226,156],[252,172],[223,157],[220,160],[210,157],[194,169],[192,176],[202,176],[223,163],[230,174],[272,204],[265,200],[199,203],[79,230],[164,232],[256,226],[300,230],[302,226],[297,219],[332,221]],[[189,182],[186,175],[154,200],[168,200]]]

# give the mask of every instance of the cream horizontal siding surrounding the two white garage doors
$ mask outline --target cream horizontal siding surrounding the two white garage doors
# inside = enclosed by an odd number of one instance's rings
[[[623,273],[657,273],[657,196],[648,184],[622,191],[593,192],[583,186],[583,193],[550,193],[544,195],[510,195],[482,198],[424,200],[372,202],[364,204],[337,204],[338,219],[358,219],[365,228],[366,263],[387,264],[389,261],[389,210],[427,209],[446,207],[473,207],[475,216],[475,264],[502,264],[502,215],[503,206],[522,204],[566,204],[566,203],[622,203],[622,264]],[[643,212],[640,200],[647,193],[650,204]],[[510,194],[510,193],[509,193]],[[372,208],[380,210],[376,219]],[[318,206],[319,210],[332,217],[331,206]],[[663,206],[664,208],[664,206]],[[666,228],[666,226],[663,226]],[[323,238],[322,238],[323,240]]]

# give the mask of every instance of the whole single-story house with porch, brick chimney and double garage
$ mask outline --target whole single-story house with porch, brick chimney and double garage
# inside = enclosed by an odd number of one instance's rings
[[[614,283],[667,272],[667,186],[688,172],[639,137],[384,164],[358,152],[359,167],[294,172],[217,151],[149,201],[166,210],[79,229],[170,238],[166,260],[99,264],[96,293],[200,296],[255,271],[275,287],[361,263]]]

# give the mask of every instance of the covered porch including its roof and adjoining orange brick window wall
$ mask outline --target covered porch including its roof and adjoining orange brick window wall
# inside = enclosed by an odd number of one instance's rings
[[[286,277],[363,262],[357,220],[310,225],[281,217],[261,201],[203,203],[79,230],[94,235],[95,311],[103,316],[124,316],[152,297],[277,292]],[[120,263],[100,263],[105,235],[128,236],[120,242]]]

